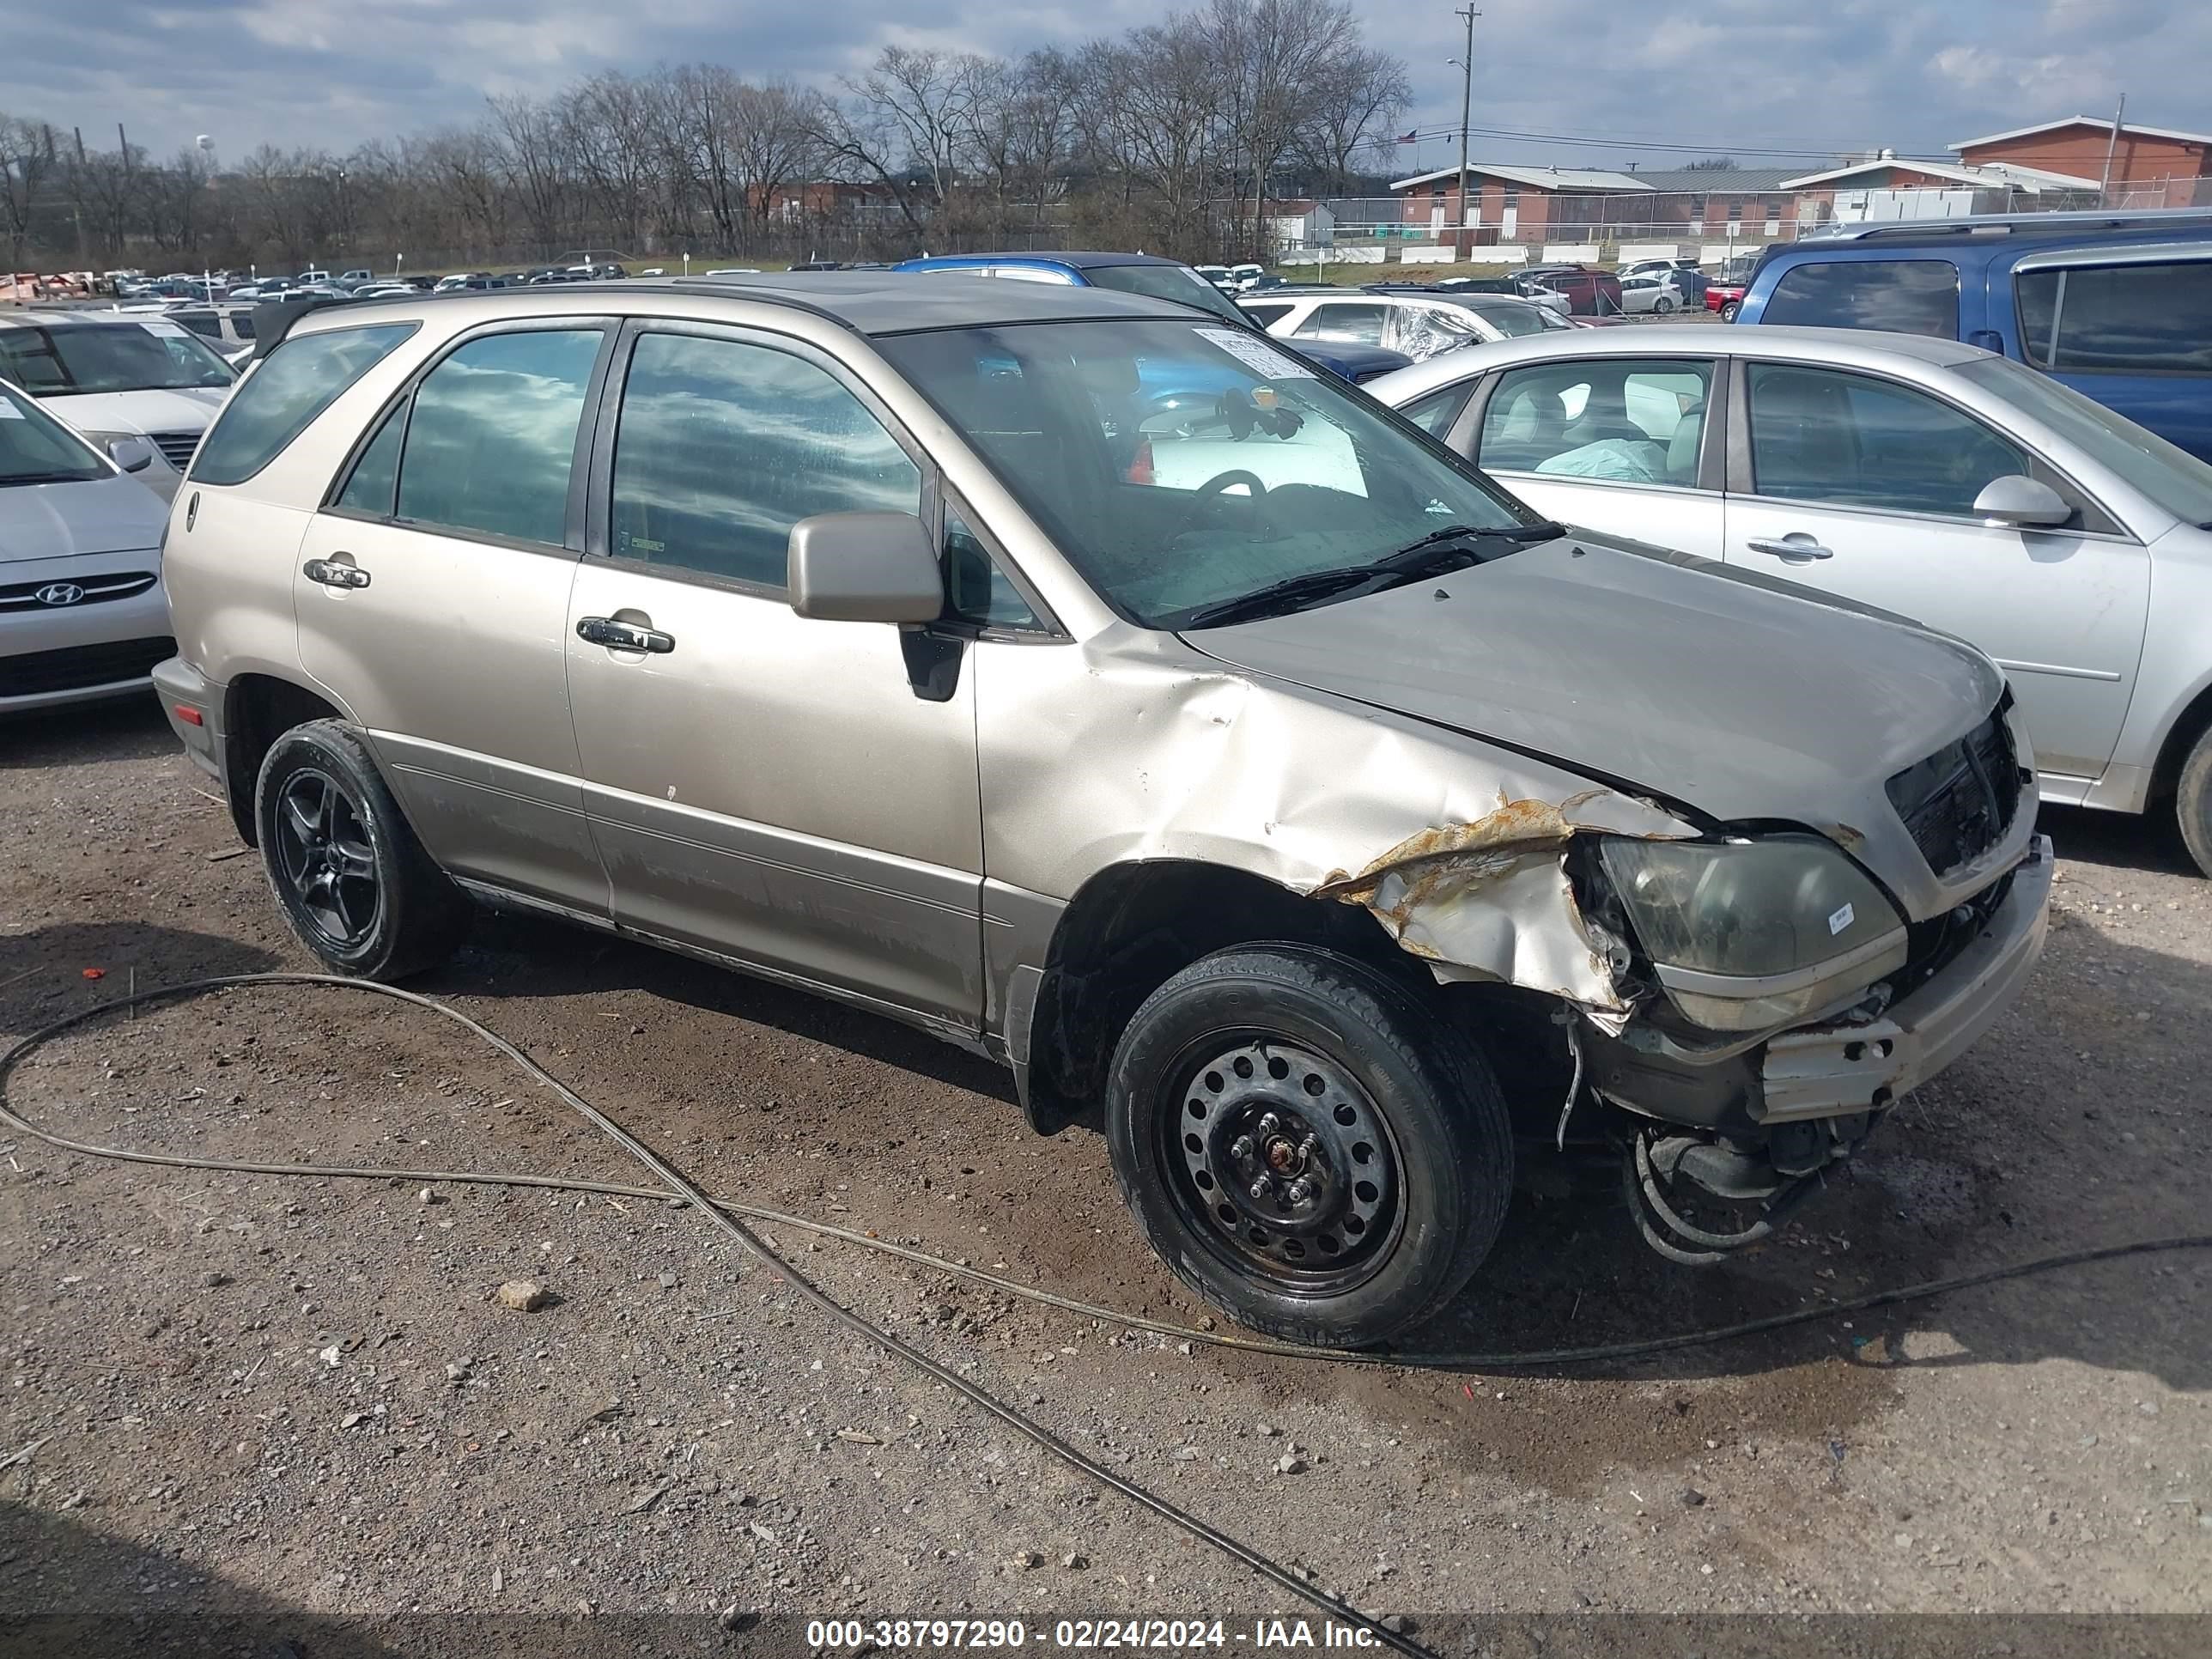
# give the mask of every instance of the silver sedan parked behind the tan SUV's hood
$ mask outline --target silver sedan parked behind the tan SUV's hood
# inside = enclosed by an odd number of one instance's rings
[[[1367,389],[1551,518],[1971,639],[2013,684],[2046,801],[2172,812],[2212,874],[2212,467],[2194,456],[1918,334],[1544,334]]]

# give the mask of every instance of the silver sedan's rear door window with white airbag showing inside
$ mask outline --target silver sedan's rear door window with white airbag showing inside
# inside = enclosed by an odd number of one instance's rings
[[[1590,358],[1513,369],[1482,411],[1491,471],[1697,484],[1710,361]]]

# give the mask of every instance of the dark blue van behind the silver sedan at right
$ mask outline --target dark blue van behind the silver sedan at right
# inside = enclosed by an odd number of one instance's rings
[[[2212,460],[2212,208],[1845,226],[1770,248],[1736,321],[1966,341]]]

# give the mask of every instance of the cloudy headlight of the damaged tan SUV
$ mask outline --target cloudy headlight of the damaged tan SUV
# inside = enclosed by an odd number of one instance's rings
[[[1608,836],[1601,856],[1659,982],[1701,1026],[1790,1024],[1905,967],[1905,920],[1820,836]]]

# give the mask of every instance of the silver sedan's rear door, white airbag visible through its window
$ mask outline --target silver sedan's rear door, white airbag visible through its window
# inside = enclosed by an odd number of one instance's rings
[[[1721,557],[1721,358],[1546,358],[1493,376],[1451,442],[1562,524]]]

